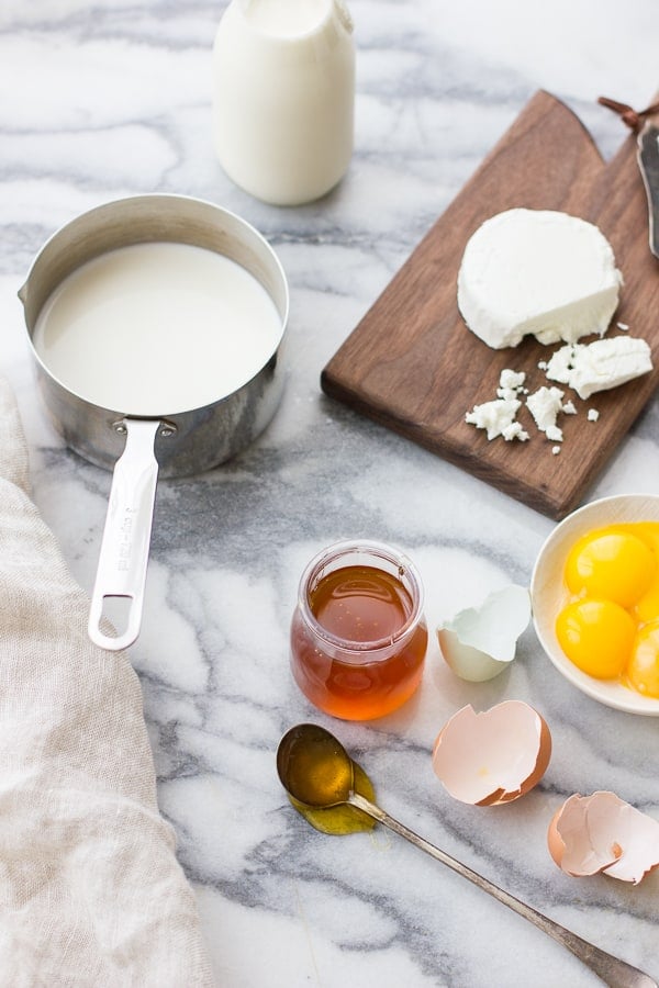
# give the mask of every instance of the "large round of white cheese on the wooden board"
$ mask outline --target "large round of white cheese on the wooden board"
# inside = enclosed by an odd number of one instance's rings
[[[606,332],[622,274],[592,223],[552,210],[514,209],[470,237],[458,273],[458,307],[494,349],[524,336],[574,343]]]

